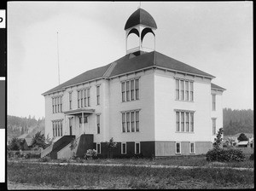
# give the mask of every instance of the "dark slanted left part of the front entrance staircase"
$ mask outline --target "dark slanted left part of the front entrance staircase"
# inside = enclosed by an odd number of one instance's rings
[[[72,140],[75,139],[75,136],[62,136],[59,140],[54,142],[48,148],[44,149],[44,154],[41,153],[41,157],[44,157],[46,154],[49,153],[50,159],[57,159],[57,153],[62,149],[65,148]],[[46,152],[48,151],[48,152]]]

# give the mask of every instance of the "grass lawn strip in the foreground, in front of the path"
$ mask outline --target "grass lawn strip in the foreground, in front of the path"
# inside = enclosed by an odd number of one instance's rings
[[[254,188],[254,171],[8,162],[8,182],[66,188]]]

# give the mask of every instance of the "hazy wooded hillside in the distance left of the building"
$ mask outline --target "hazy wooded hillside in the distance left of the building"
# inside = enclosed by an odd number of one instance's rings
[[[21,136],[25,133],[34,136],[38,131],[42,131],[44,133],[44,118],[43,119],[35,119],[35,117],[31,118],[20,118],[16,116],[7,116],[7,137],[8,140],[12,138]]]

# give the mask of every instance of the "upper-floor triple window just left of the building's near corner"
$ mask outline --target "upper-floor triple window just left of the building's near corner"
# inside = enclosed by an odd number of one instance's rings
[[[139,79],[126,80],[121,83],[122,101],[139,99]]]

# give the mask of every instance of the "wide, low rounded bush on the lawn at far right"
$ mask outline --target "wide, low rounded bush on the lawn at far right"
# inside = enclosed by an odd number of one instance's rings
[[[230,161],[243,161],[245,154],[241,150],[223,148],[213,148],[207,152],[207,161],[219,161],[219,162],[230,162]]]

